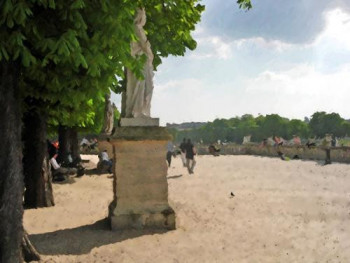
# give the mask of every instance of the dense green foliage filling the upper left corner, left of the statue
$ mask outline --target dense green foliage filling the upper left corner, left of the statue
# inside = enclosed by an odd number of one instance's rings
[[[94,126],[99,104],[130,55],[133,1],[3,1],[0,60],[19,60],[22,97],[44,103],[51,125]],[[46,106],[42,106],[42,105]]]

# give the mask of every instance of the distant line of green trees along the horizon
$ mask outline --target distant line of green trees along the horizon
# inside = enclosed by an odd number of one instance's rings
[[[169,128],[176,142],[183,138],[191,138],[195,142],[242,143],[243,137],[251,135],[253,142],[260,142],[271,136],[279,136],[290,140],[293,135],[300,138],[323,138],[325,134],[336,137],[350,135],[350,121],[343,119],[338,113],[315,112],[311,119],[288,119],[278,114],[259,115],[254,117],[245,114],[230,119],[216,119],[197,129],[177,130]]]

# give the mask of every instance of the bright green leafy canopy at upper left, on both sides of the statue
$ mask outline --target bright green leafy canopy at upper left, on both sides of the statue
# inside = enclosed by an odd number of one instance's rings
[[[122,90],[124,68],[142,77],[145,57],[130,54],[137,8],[146,10],[145,30],[156,68],[162,57],[195,49],[191,32],[204,11],[199,2],[4,0],[0,61],[20,62],[20,95],[41,101],[40,110],[49,112],[51,125],[96,129],[104,95],[109,89]],[[247,0],[238,4],[251,7]]]

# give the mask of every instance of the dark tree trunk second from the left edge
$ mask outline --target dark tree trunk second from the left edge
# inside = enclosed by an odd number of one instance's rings
[[[33,100],[31,103],[40,105]],[[46,119],[46,114],[39,113],[36,109],[26,112],[23,118],[24,205],[28,208],[54,205]]]

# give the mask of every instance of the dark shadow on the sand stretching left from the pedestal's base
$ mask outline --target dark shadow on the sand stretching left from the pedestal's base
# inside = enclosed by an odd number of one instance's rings
[[[111,231],[108,218],[105,218],[91,225],[33,234],[29,236],[29,239],[43,255],[82,255],[96,247],[168,231],[157,229]]]

